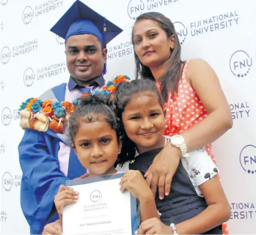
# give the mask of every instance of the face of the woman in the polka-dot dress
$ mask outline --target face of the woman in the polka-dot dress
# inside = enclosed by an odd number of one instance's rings
[[[133,29],[134,50],[143,65],[153,68],[164,64],[170,57],[174,41],[167,37],[157,22],[142,19]]]

